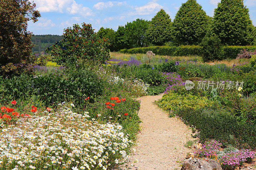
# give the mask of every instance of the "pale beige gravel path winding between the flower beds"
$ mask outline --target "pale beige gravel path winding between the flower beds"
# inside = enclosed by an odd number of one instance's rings
[[[133,149],[130,163],[119,167],[132,170],[174,170],[181,169],[181,164],[191,149],[184,147],[191,137],[191,129],[177,118],[169,118],[168,113],[161,110],[153,102],[161,99],[163,94],[157,96],[143,96],[139,116],[141,131]],[[138,145],[138,143],[140,145]],[[138,160],[137,163],[133,161]],[[131,166],[131,163],[134,166]]]

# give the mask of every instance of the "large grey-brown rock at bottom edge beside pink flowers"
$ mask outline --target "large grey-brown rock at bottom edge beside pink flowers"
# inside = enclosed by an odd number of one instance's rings
[[[187,159],[181,170],[222,170],[220,164],[209,158]]]

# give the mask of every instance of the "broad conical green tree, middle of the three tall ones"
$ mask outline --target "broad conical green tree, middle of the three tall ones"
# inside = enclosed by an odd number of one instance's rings
[[[172,24],[176,44],[198,45],[208,31],[210,18],[196,0],[181,4]]]

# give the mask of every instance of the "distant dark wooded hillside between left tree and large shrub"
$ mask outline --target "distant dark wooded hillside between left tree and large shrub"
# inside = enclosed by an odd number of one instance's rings
[[[33,53],[40,53],[45,51],[45,48],[51,47],[56,42],[62,40],[60,35],[34,35],[31,41],[35,46],[32,48]]]

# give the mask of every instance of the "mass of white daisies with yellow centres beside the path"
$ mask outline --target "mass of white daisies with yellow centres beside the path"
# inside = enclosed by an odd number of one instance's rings
[[[48,111],[45,111],[48,112]],[[119,124],[99,124],[66,107],[1,129],[0,169],[109,169],[127,159]]]

